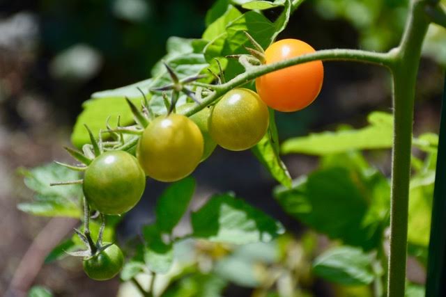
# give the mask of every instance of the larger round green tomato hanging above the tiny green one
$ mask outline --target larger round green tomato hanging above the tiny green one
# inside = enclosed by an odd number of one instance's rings
[[[102,214],[123,214],[141,199],[146,176],[138,160],[123,151],[105,152],[85,170],[84,195]]]

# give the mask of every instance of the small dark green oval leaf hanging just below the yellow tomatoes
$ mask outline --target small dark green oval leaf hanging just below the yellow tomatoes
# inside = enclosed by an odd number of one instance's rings
[[[156,204],[156,224],[160,232],[171,233],[185,214],[192,195],[194,195],[195,180],[186,177],[169,186]]]

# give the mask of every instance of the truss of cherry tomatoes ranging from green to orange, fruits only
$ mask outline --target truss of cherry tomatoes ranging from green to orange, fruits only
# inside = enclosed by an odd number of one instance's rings
[[[266,64],[314,52],[300,40],[280,40],[265,51]],[[136,158],[123,151],[97,156],[86,168],[84,195],[102,214],[119,215],[139,202],[146,176],[161,182],[183,179],[212,154],[217,145],[226,150],[247,150],[266,135],[268,106],[277,111],[298,111],[311,104],[323,81],[323,65],[314,61],[277,70],[256,79],[256,90],[234,88],[214,106],[187,118],[188,103],[177,113],[160,115],[144,129]],[[123,266],[123,253],[112,244],[84,259],[84,270],[94,280],[113,278]]]

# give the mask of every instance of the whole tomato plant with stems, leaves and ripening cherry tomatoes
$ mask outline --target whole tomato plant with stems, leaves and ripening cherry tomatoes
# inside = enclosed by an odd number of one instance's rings
[[[67,148],[80,164],[59,163],[66,171],[48,166],[25,172],[26,184],[38,195],[20,209],[82,220],[84,231],[75,232],[87,250],[70,253],[88,257],[84,267],[91,278],[108,279],[123,266],[123,255],[115,245],[102,245],[103,237],[113,239],[116,227],[110,223],[113,216],[105,215],[134,207],[144,191],[144,175],[174,182],[157,199],[155,219],[131,241],[132,258],[121,273],[144,296],[200,296],[207,286],[220,294],[229,282],[256,288],[253,296],[293,296],[307,294],[311,286],[300,282],[314,276],[341,287],[344,295],[403,297],[406,291],[424,290],[406,282],[406,259],[427,262],[426,218],[432,207],[426,197],[440,178],[435,177],[439,136],[413,136],[413,108],[423,40],[429,24],[446,26],[446,13],[439,1],[413,0],[394,49],[315,51],[300,40],[275,41],[302,2],[217,1],[201,38],[168,40],[167,55],[153,67],[151,79],[93,94],[72,134],[82,150]],[[279,11],[274,22],[263,13],[270,9]],[[371,113],[367,127],[300,136],[281,145],[274,110],[299,111],[313,102],[323,83],[322,61],[385,67],[392,77],[393,114]],[[254,81],[259,95],[248,89]],[[84,129],[84,122],[92,128]],[[279,221],[233,193],[212,195],[188,212],[195,189],[188,175],[212,158],[216,144],[233,151],[251,148],[279,182],[273,196],[284,211],[332,239],[329,247],[315,255],[312,232],[296,242],[284,235]],[[413,145],[425,159],[412,156]],[[390,148],[387,179],[362,150]],[[292,180],[280,157],[290,153],[318,156],[321,166]],[[83,179],[78,172],[84,172]],[[49,187],[47,179],[65,187]],[[98,212],[92,213],[89,204]],[[185,216],[190,230],[176,236],[174,229]],[[79,239],[65,244],[78,250]],[[66,246],[52,257],[61,257]],[[265,255],[259,256],[256,251],[262,249]],[[256,278],[253,271],[264,274]],[[141,275],[150,275],[150,292],[139,284]]]

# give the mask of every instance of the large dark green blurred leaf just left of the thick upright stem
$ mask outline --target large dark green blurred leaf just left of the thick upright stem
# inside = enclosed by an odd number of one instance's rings
[[[344,163],[348,166],[348,161]],[[286,212],[316,231],[368,250],[380,244],[390,186],[375,170],[337,166],[300,177],[291,189],[278,186],[275,198]]]

